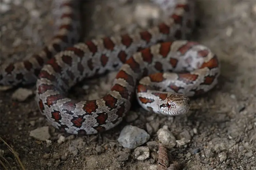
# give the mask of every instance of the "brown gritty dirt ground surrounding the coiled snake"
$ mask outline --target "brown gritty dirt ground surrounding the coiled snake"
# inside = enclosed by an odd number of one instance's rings
[[[1,62],[30,56],[49,41],[55,23],[50,1],[0,2]],[[134,17],[138,6],[148,4],[151,3],[85,2],[85,39],[149,27],[150,21],[142,23],[144,20]],[[176,145],[168,151],[173,161],[181,165],[180,169],[255,170],[256,2],[196,1],[196,6],[199,24],[193,40],[216,53],[222,67],[217,87],[200,98],[191,99],[191,111],[186,116],[167,118],[146,113],[136,105],[135,120],[124,120],[100,135],[74,136],[49,126],[33,96],[19,102],[12,99],[18,88],[1,91],[0,136],[14,146],[26,169],[153,170],[157,164],[157,147],[152,143],[158,142],[158,129],[167,125],[176,139],[182,132],[189,132],[191,136],[186,145]],[[149,9],[157,11],[153,5],[149,5]],[[148,14],[152,15],[150,10]],[[154,18],[153,23],[159,18]],[[84,86],[77,85],[72,89],[72,97],[88,99],[104,95],[110,89],[114,74],[86,81]],[[34,86],[25,88],[35,90]],[[123,148],[117,138],[125,125],[147,131],[147,123],[153,132],[143,146],[150,147],[150,156],[137,160],[134,150]],[[30,136],[30,131],[42,126],[49,126],[51,142]],[[65,141],[60,142],[61,136]],[[19,169],[14,156],[2,143],[1,154]]]

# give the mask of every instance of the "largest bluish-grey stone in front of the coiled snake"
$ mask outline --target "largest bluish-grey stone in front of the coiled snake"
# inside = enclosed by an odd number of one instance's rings
[[[127,125],[121,131],[118,142],[124,147],[129,149],[137,148],[150,139],[150,135],[136,126]]]

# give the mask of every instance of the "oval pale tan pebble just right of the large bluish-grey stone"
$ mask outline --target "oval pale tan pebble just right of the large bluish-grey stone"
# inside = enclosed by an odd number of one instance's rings
[[[176,145],[175,137],[171,131],[166,129],[166,126],[163,126],[163,128],[157,131],[157,136],[159,141],[168,148],[173,148]]]

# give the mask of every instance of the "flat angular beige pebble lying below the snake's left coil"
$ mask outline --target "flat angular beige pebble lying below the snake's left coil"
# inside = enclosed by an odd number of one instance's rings
[[[33,131],[30,131],[29,136],[41,141],[46,141],[51,137],[51,135],[49,134],[48,126],[43,126]]]

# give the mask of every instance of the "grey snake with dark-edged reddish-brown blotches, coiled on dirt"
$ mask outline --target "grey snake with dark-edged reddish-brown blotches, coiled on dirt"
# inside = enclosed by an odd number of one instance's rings
[[[165,8],[171,4],[155,2]],[[27,60],[3,64],[0,74],[0,85],[36,83],[39,110],[60,132],[89,135],[110,130],[122,122],[134,99],[148,112],[184,115],[190,109],[189,97],[216,86],[216,54],[185,39],[194,23],[189,1],[177,0],[171,15],[149,29],[85,42],[79,42],[80,2],[60,3],[61,24],[52,41]],[[115,70],[111,90],[102,98],[67,97],[77,82]]]

